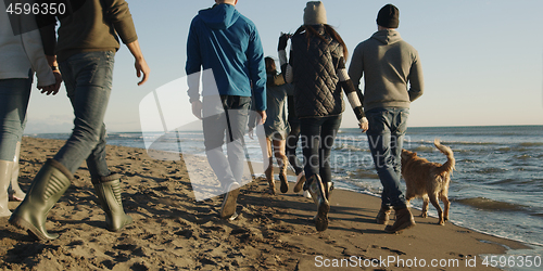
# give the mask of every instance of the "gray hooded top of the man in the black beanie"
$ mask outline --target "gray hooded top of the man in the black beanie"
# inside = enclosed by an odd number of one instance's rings
[[[366,112],[382,107],[408,108],[424,92],[418,52],[392,29],[377,31],[356,47],[349,76],[356,88],[364,76]]]

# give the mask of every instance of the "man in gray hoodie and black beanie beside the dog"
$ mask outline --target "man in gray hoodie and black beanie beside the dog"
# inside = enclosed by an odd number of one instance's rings
[[[418,52],[396,30],[400,11],[384,5],[378,14],[378,31],[354,50],[349,76],[358,87],[364,75],[364,111],[375,167],[383,186],[377,222],[386,224],[394,208],[396,220],[384,231],[395,233],[415,225],[400,190],[401,152],[407,129],[409,104],[422,94],[422,68]],[[411,86],[407,86],[407,83]]]

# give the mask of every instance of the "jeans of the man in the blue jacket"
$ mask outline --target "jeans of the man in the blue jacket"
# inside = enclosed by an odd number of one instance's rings
[[[204,96],[203,133],[207,160],[220,184],[241,183],[245,160],[244,140],[249,121],[250,96]],[[223,152],[227,139],[227,154]]]

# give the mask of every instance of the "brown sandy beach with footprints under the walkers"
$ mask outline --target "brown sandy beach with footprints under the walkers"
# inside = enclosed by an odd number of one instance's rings
[[[23,190],[63,143],[24,138]],[[224,221],[217,216],[219,197],[195,201],[182,162],[108,147],[135,222],[118,233],[105,230],[84,164],[49,212],[47,229],[60,233],[58,240],[35,242],[0,219],[0,270],[417,270],[422,263],[425,270],[497,270],[484,267],[480,256],[528,248],[451,223],[442,227],[437,218],[416,217],[414,229],[387,234],[375,223],[379,198],[341,190],[331,195],[329,229],[317,232],[315,205],[292,193],[293,183],[289,193],[272,196],[258,179],[242,188],[239,218]],[[10,203],[10,209],[16,205]]]

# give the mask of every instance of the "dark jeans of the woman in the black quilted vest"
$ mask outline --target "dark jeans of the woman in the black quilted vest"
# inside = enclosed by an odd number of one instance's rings
[[[319,175],[323,183],[331,182],[330,154],[341,125],[341,115],[303,118],[300,125],[305,176]],[[306,182],[306,186],[310,184]]]

